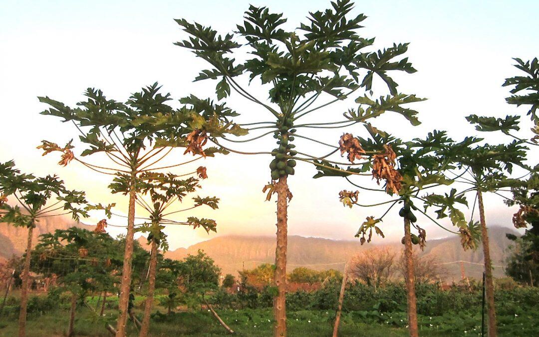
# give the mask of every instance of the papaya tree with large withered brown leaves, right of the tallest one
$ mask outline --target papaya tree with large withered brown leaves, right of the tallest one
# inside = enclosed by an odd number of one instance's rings
[[[453,183],[444,175],[445,170],[454,168],[452,156],[447,151],[447,146],[453,143],[453,140],[448,138],[445,132],[434,131],[429,133],[425,139],[413,139],[405,142],[369,124],[365,124],[365,129],[367,129],[365,137],[344,134],[340,140],[343,154],[361,154],[362,159],[369,159],[362,167],[340,168],[338,171],[323,168],[319,169],[319,173],[315,177],[344,177],[353,188],[361,189],[361,192],[360,190],[341,191],[339,198],[344,206],[364,208],[389,205],[381,216],[368,216],[366,221],[362,223],[356,233],[356,237],[360,237],[361,244],[371,242],[373,233],[384,237],[382,231],[383,218],[390,214],[396,204],[401,203],[403,205],[398,214],[403,218],[404,224],[402,243],[404,244],[404,262],[406,266],[408,324],[410,335],[417,336],[417,300],[414,286],[412,244],[419,244],[420,248],[424,249],[426,230],[418,225],[416,214],[424,216],[427,222],[435,223],[449,232],[457,233],[446,229],[433,218],[433,215],[427,213],[429,207],[436,205],[440,208],[437,211],[439,216],[444,215],[445,211],[448,210],[454,224],[462,227],[466,226],[464,214],[457,208],[459,203],[467,205],[464,197],[443,198],[438,195],[439,201],[435,204],[427,201],[425,195],[420,195],[427,194],[428,197],[433,197],[433,194],[429,195],[431,189],[443,190]],[[467,142],[473,142],[473,140],[470,139]],[[349,156],[349,159],[356,159],[356,157],[355,155]],[[361,172],[371,170],[371,180],[353,179],[352,173],[358,170]],[[374,184],[374,181],[376,181],[376,184]],[[383,182],[383,187],[379,188],[378,185],[381,182]],[[374,186],[369,184],[374,184]],[[456,191],[451,189],[449,195],[454,195]],[[376,193],[382,198],[383,196],[388,196],[389,200],[372,204],[360,202],[361,195],[367,194],[368,196],[365,198],[371,200]],[[418,235],[412,233],[413,229],[417,231]],[[337,331],[337,329],[338,326],[335,326],[334,331]]]

